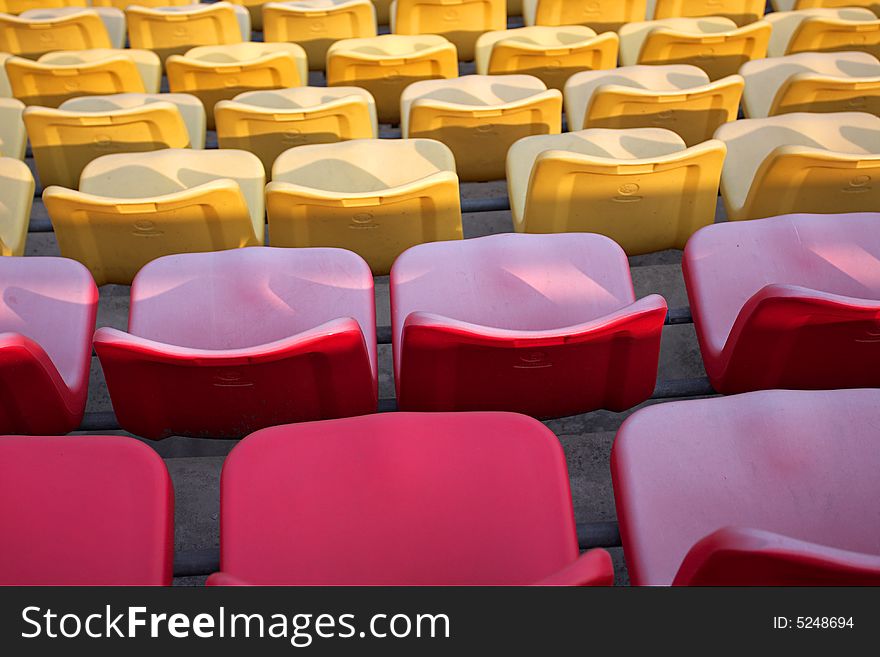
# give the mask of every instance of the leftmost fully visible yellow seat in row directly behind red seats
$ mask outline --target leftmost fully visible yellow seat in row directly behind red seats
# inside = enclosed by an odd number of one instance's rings
[[[264,184],[251,153],[164,149],[93,160],[79,191],[49,187],[43,202],[62,255],[128,285],[163,255],[262,244]]]

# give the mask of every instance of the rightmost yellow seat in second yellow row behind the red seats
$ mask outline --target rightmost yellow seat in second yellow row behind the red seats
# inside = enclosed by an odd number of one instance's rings
[[[880,116],[880,61],[866,52],[769,57],[748,62],[740,72],[747,118],[851,111]]]

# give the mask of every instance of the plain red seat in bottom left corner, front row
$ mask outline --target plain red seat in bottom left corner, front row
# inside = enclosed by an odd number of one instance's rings
[[[170,585],[174,490],[122,436],[0,437],[0,584]]]

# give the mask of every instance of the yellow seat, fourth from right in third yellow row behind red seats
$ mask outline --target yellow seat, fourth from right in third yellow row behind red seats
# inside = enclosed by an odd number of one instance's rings
[[[457,76],[455,46],[433,34],[343,39],[327,51],[327,85],[369,91],[381,123],[400,121],[400,95],[409,84]]]

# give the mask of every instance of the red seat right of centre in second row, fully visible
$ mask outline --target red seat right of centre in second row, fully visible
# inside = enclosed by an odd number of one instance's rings
[[[535,417],[628,409],[654,391],[663,297],[636,301],[602,235],[415,246],[391,270],[398,406]]]

